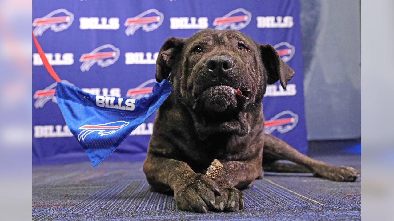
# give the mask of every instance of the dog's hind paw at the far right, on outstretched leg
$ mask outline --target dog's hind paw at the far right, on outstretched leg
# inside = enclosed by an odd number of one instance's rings
[[[314,176],[339,182],[353,182],[357,180],[360,173],[349,166],[330,166],[315,170]]]

